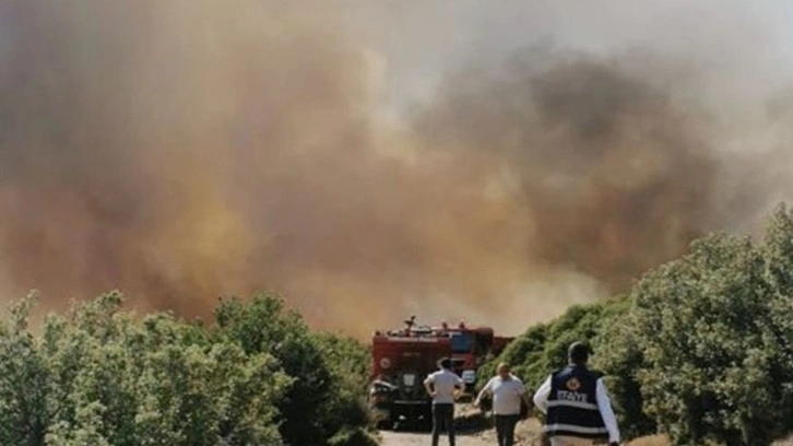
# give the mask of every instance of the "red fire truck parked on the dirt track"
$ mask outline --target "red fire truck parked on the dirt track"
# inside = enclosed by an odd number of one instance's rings
[[[450,357],[470,394],[476,371],[499,354],[511,338],[497,337],[489,327],[441,324],[419,326],[415,316],[401,330],[375,332],[372,338],[369,408],[381,429],[401,421],[429,424],[431,400],[424,378],[437,369],[441,357]]]

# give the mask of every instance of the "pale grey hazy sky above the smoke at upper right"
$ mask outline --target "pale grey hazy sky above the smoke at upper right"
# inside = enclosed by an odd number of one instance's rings
[[[538,40],[601,54],[641,49],[694,59],[708,69],[708,83],[731,80],[732,87],[736,82],[778,86],[786,82],[778,70],[790,73],[793,68],[793,2],[785,0],[340,0],[336,4],[352,28],[387,59],[387,84],[397,103],[421,99],[450,70],[470,62],[499,63]]]

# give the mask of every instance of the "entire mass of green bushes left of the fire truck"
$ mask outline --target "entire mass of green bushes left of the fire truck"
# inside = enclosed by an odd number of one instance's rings
[[[371,444],[366,387],[345,373],[365,349],[310,332],[277,296],[224,302],[211,328],[137,317],[109,293],[34,333],[34,304],[0,324],[0,444]],[[338,442],[351,432],[369,443]]]

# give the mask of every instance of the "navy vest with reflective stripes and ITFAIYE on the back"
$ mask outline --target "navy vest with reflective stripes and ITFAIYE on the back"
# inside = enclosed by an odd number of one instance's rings
[[[545,433],[581,438],[608,438],[597,409],[600,375],[587,367],[570,365],[551,377]]]

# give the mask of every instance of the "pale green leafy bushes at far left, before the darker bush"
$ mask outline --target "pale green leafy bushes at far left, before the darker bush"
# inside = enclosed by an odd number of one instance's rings
[[[108,293],[47,317],[28,296],[0,324],[0,444],[279,445],[293,383],[267,352]]]

